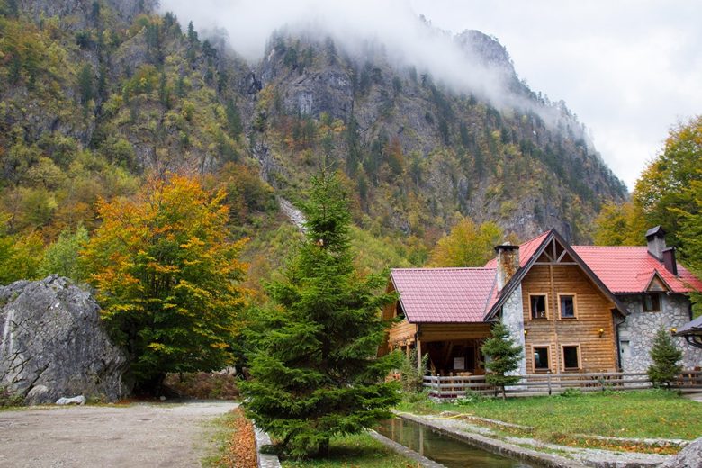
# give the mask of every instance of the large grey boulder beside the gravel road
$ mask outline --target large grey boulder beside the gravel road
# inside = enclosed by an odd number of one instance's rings
[[[0,387],[28,404],[128,392],[127,357],[112,345],[90,293],[51,275],[0,287]]]

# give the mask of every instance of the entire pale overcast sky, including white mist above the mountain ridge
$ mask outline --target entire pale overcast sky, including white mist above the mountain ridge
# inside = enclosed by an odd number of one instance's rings
[[[449,81],[464,71],[446,41],[428,37],[417,15],[459,33],[497,37],[518,75],[551,101],[565,101],[629,189],[662,148],[671,126],[702,113],[702,2],[696,0],[161,0],[183,23],[229,31],[234,49],[263,56],[285,23],[327,30],[354,47],[360,37],[423,63]],[[349,39],[352,38],[352,39]],[[354,39],[355,38],[355,39]],[[468,78],[465,78],[468,77]],[[466,83],[475,87],[475,83]],[[491,90],[484,90],[488,95]]]

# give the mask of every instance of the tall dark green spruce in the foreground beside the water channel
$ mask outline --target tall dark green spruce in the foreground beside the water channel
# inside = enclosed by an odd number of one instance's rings
[[[332,437],[390,416],[396,383],[385,376],[396,355],[375,357],[391,294],[385,275],[360,277],[349,243],[346,193],[336,175],[312,179],[304,206],[306,239],[284,279],[269,286],[274,305],[249,335],[251,379],[242,384],[247,414],[293,456],[329,453]]]

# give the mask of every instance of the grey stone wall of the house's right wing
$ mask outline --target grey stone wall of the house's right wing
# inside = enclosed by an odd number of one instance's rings
[[[644,312],[643,296],[620,296],[629,315],[619,326],[619,353],[624,372],[646,372],[651,365],[651,347],[656,332],[679,329],[690,320],[689,299],[684,294],[661,293],[661,311]],[[673,338],[683,354],[684,369],[693,369],[702,365],[702,349],[692,347],[685,338]]]

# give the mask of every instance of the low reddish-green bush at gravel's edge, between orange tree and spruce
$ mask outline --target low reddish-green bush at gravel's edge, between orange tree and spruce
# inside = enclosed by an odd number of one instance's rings
[[[166,387],[183,397],[200,400],[234,400],[238,398],[237,378],[232,374],[167,374]]]

